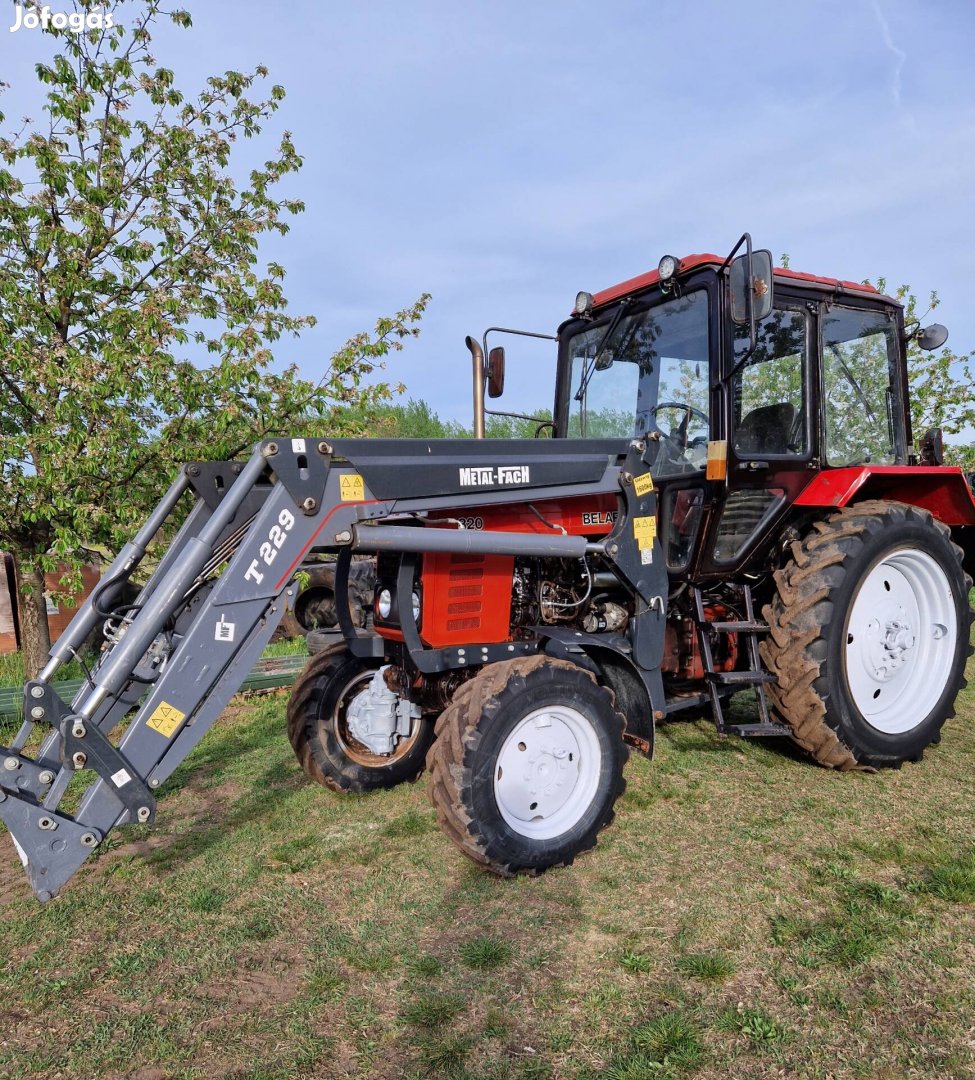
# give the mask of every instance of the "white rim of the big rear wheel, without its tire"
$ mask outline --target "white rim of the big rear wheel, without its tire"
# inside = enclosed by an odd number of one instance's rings
[[[864,719],[885,734],[922,724],[945,690],[958,638],[940,565],[915,549],[885,555],[861,582],[844,633],[847,683]]]

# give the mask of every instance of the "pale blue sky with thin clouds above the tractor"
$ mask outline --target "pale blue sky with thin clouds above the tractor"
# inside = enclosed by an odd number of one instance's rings
[[[309,378],[426,291],[389,374],[466,419],[465,334],[552,333],[580,288],[746,229],[794,269],[937,289],[975,348],[972,0],[185,5],[157,49],[184,89],[263,63],[287,90],[308,210],[266,253],[320,319],[280,350]],[[0,28],[11,120],[39,112],[42,46]],[[511,346],[503,402],[547,404],[553,373]]]

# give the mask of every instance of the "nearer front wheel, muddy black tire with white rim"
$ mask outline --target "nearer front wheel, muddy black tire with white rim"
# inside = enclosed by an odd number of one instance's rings
[[[563,660],[489,664],[457,691],[436,734],[430,797],[441,827],[504,877],[592,848],[626,786],[612,693]]]

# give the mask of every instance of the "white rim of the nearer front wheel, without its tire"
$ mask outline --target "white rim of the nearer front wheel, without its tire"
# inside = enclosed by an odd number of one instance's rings
[[[533,840],[560,836],[585,816],[601,768],[591,720],[568,705],[537,708],[514,727],[495,762],[501,816]]]

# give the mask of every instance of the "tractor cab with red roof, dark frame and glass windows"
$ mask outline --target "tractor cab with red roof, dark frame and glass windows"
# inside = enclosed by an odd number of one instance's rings
[[[672,577],[747,572],[824,472],[908,462],[903,342],[897,301],[773,270],[746,234],[728,258],[665,256],[579,294],[555,434],[646,437]]]

